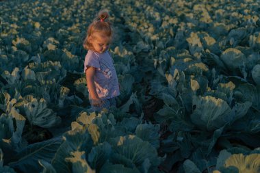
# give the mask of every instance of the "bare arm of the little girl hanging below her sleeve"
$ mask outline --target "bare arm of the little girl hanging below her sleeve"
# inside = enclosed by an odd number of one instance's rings
[[[96,85],[94,83],[94,75],[95,75],[95,68],[89,66],[86,70],[86,81],[88,85],[88,91],[90,94],[90,98],[92,98],[93,105],[99,106],[102,104],[102,100],[99,98],[99,95],[96,93]]]

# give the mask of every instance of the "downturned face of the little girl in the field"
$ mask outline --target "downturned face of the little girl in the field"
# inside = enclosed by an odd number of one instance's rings
[[[103,34],[94,33],[90,36],[90,43],[94,48],[93,51],[104,53],[109,46],[109,37]]]

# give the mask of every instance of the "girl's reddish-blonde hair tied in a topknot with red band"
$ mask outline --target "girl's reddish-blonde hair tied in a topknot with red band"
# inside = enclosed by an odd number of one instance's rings
[[[109,38],[109,40],[112,40],[112,24],[107,21],[107,18],[109,18],[107,10],[101,10],[97,15],[97,18],[95,18],[94,21],[90,24],[90,26],[88,27],[87,36],[83,41],[84,49],[93,49],[93,46],[90,43],[90,36],[92,36],[94,33],[104,34]]]

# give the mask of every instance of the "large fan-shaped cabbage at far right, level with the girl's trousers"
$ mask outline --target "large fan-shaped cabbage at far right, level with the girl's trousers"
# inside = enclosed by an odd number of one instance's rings
[[[192,98],[194,111],[191,119],[200,129],[214,131],[245,116],[251,105],[252,103],[246,101],[245,103],[237,103],[231,109],[229,104],[220,98],[194,96]]]

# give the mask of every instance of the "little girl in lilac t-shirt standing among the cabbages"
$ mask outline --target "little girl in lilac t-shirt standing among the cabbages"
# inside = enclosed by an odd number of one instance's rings
[[[116,106],[115,96],[120,94],[113,59],[107,51],[112,41],[112,26],[107,21],[108,12],[101,11],[88,27],[83,47],[88,49],[84,72],[88,85],[91,111],[101,111]]]

